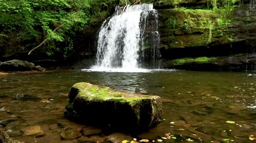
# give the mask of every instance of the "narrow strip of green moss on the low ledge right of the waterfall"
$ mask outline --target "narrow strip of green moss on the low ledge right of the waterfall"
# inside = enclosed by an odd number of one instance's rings
[[[213,61],[216,59],[217,59],[216,57],[180,58],[180,59],[171,60],[170,62],[173,65],[182,65],[185,63],[204,63],[204,62]]]

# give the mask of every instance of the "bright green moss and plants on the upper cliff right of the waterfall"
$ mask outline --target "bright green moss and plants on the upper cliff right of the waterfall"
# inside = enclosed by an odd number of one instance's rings
[[[220,5],[219,3],[216,4]],[[216,10],[173,8],[171,14],[176,15],[176,17],[170,16],[166,20],[168,29],[173,30],[174,33],[183,32],[188,35],[203,34],[202,36],[204,36],[204,38],[197,41],[197,43],[192,42],[193,39],[188,41],[182,40],[182,42],[186,42],[186,45],[191,43],[194,45],[207,46],[215,41],[215,36],[224,36],[228,24],[232,22],[230,19],[230,9],[225,9],[224,7],[216,8]],[[175,38],[175,36],[172,36],[170,40],[173,43],[180,41],[180,39],[176,41]]]

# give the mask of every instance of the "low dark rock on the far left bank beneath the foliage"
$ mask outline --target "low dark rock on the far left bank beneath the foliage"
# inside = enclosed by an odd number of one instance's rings
[[[33,63],[22,60],[10,60],[0,62],[0,71],[29,71],[29,70],[40,70],[45,71],[43,67],[35,66]]]

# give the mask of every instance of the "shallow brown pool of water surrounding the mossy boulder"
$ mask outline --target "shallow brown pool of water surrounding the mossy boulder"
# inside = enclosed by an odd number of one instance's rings
[[[74,83],[89,82],[118,91],[161,97],[162,122],[140,135],[131,135],[132,138],[164,142],[227,142],[227,139],[252,142],[250,136],[256,136],[255,79],[254,72],[10,73],[0,76],[0,122],[11,119],[4,130],[20,141],[61,142],[61,130],[82,126],[64,117],[68,92]],[[23,136],[20,130],[29,125],[40,125],[45,134]],[[176,139],[164,139],[165,133]],[[90,138],[105,139],[109,134],[103,132]]]

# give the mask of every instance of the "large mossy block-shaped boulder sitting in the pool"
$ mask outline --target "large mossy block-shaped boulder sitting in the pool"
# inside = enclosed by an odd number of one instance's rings
[[[158,96],[128,94],[85,82],[74,84],[68,96],[65,116],[92,125],[136,132],[161,119]]]

